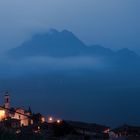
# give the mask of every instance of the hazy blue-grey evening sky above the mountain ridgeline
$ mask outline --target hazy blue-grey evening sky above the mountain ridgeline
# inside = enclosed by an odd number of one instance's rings
[[[139,0],[0,0],[0,51],[68,29],[86,44],[140,50]]]

